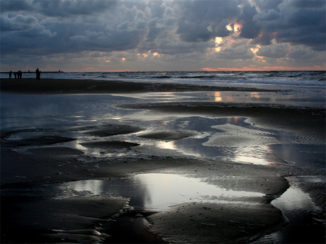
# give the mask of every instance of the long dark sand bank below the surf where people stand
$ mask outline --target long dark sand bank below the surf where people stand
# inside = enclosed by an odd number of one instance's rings
[[[64,80],[64,79],[1,79],[1,91],[29,94],[139,93],[176,91],[271,91],[255,88],[192,86],[173,83],[141,83],[126,81]],[[275,91],[275,90],[273,90]]]

